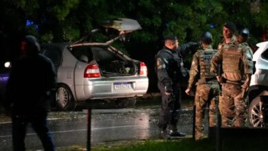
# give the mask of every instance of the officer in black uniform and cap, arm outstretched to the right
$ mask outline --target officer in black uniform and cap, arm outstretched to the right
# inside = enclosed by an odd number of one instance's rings
[[[179,109],[181,108],[179,79],[187,76],[181,54],[190,47],[198,45],[198,43],[189,42],[179,46],[177,37],[174,35],[166,36],[164,40],[163,49],[159,50],[155,57],[157,86],[161,92],[161,111],[158,124],[160,139],[168,139],[170,136],[184,137],[186,135],[177,131]],[[169,132],[166,130],[168,126]]]

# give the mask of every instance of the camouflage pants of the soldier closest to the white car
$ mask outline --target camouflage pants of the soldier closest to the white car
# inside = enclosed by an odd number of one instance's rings
[[[221,126],[244,126],[247,118],[247,104],[238,84],[222,84],[222,95],[219,97]]]

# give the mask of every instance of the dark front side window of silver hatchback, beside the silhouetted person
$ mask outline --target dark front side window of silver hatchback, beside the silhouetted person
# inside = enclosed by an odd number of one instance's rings
[[[55,67],[60,66],[61,60],[61,51],[59,47],[56,46],[45,46],[42,48],[43,55],[47,56],[49,59],[52,60]]]

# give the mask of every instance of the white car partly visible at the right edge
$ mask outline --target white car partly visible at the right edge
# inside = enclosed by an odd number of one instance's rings
[[[249,85],[249,124],[254,127],[267,127],[268,41],[258,43],[257,46],[258,50],[253,55],[256,71]],[[266,119],[265,116],[267,116]]]

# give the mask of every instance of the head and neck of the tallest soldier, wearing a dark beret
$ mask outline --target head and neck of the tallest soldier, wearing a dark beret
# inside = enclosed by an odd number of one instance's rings
[[[218,50],[227,43],[234,43],[234,41],[236,41],[234,32],[236,32],[236,25],[233,22],[227,21],[223,24],[223,40],[219,43]]]

